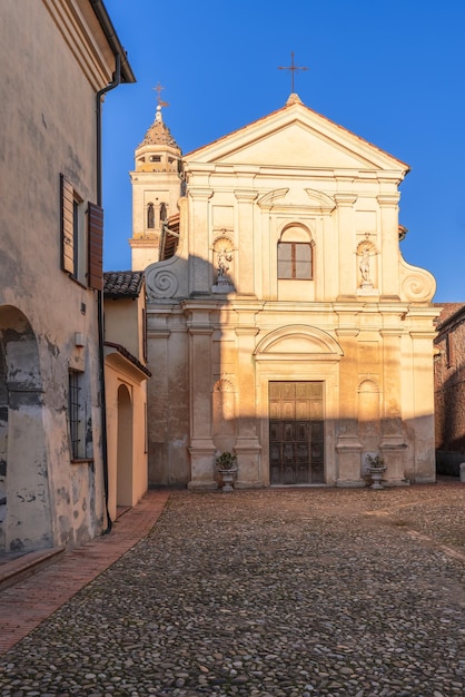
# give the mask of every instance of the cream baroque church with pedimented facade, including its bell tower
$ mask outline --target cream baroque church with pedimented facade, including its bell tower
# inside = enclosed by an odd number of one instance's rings
[[[304,105],[182,155],[156,119],[131,173],[147,289],[151,485],[435,481],[434,277],[400,253],[408,165]]]

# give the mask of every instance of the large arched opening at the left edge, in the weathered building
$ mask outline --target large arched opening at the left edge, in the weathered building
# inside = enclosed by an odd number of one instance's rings
[[[17,307],[0,307],[0,551],[52,544],[43,386],[37,340]]]

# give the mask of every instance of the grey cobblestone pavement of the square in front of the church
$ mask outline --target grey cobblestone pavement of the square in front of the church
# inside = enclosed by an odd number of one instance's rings
[[[464,484],[182,491],[0,695],[463,696],[464,649]]]

